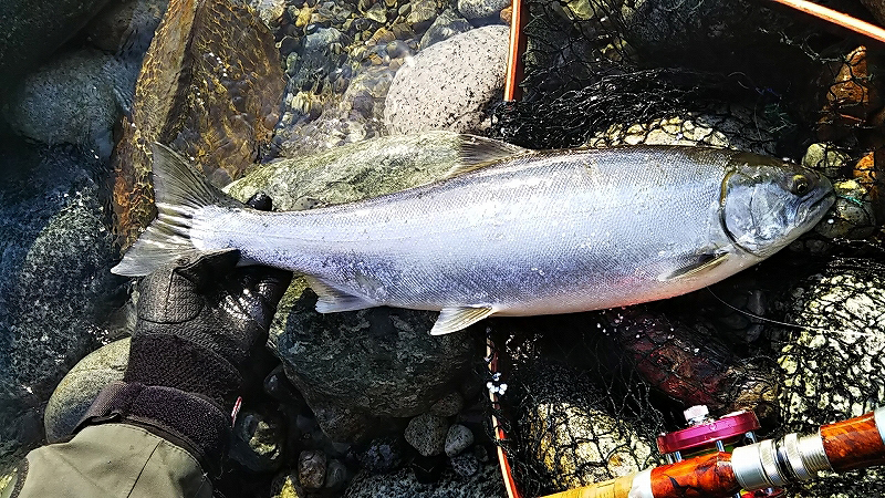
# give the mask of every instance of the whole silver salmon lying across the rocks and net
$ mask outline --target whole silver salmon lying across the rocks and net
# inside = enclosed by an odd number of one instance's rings
[[[795,164],[684,146],[535,152],[461,138],[437,183],[306,211],[264,212],[155,144],[157,219],[113,271],[238,250],[308,278],[321,313],[440,311],[431,333],[494,315],[568,313],[690,292],[811,229],[834,199]]]

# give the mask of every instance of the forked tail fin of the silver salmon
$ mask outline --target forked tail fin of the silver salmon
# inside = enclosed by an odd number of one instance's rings
[[[142,277],[178,258],[197,257],[200,250],[191,240],[195,212],[212,205],[243,206],[195,173],[169,147],[155,143],[152,151],[157,219],[111,269],[116,274]]]

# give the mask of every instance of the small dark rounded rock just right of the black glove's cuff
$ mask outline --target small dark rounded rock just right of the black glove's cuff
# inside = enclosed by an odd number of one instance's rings
[[[280,421],[244,409],[233,425],[228,455],[256,473],[274,471],[282,465],[285,432]]]

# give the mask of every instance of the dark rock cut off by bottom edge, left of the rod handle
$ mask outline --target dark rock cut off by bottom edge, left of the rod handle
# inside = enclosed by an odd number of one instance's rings
[[[469,478],[446,471],[433,484],[421,484],[412,470],[372,475],[362,471],[344,491],[345,498],[503,498],[498,464],[485,465]]]

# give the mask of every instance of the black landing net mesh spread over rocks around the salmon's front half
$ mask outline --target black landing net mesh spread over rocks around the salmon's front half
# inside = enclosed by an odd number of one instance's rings
[[[819,3],[872,21],[857,2]],[[695,404],[714,416],[756,411],[760,437],[881,406],[881,51],[768,2],[527,8],[523,94],[494,110],[489,136],[530,148],[686,144],[789,157],[826,174],[839,199],[813,232],[708,291],[492,321],[500,362],[488,381],[508,386],[496,415],[523,496],[663,463],[655,436],[684,428]],[[881,477],[826,476],[787,496],[878,496]]]

